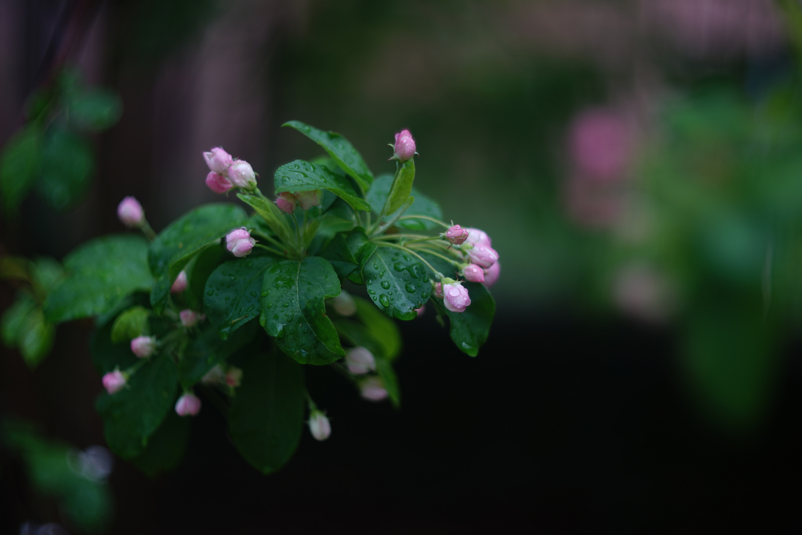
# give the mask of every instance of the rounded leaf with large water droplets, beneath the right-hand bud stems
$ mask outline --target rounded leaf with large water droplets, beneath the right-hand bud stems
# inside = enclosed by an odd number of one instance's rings
[[[367,293],[391,318],[415,319],[431,295],[431,282],[423,262],[406,251],[379,246],[363,265]]]

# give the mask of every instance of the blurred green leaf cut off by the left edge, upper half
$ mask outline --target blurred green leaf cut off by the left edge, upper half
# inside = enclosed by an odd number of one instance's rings
[[[42,161],[42,132],[28,124],[11,137],[0,154],[0,193],[8,215],[19,205],[38,177]]]

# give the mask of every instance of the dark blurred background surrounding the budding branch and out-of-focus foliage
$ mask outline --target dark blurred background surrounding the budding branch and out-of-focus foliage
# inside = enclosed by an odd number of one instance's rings
[[[217,144],[249,160],[267,192],[274,168],[316,154],[280,128],[298,119],[344,133],[377,174],[391,170],[393,133],[410,128],[416,187],[447,219],[485,229],[504,265],[476,359],[431,310],[400,325],[401,411],[306,367],[332,436],[305,432],[263,476],[205,403],[175,472],[149,480],[115,465],[110,533],[797,533],[796,330],[759,419],[721,424],[687,383],[682,321],[625,316],[588,291],[606,280],[604,230],[572,221],[563,199],[566,136],[583,109],[625,110],[643,140],[665,95],[713,82],[748,92],[792,68],[772,2],[739,4],[0,0],[0,142],[59,62],[124,102],[93,140],[87,199],[54,213],[28,197],[0,223],[3,253],[61,258],[121,232],[126,195],[160,230],[216,198],[201,152]],[[0,286],[0,307],[13,298]],[[78,448],[103,444],[90,333],[90,321],[59,326],[35,371],[3,350],[2,415]],[[0,489],[2,533],[63,521],[6,451]]]

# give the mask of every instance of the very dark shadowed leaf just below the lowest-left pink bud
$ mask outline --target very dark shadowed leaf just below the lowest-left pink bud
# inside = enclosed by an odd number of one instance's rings
[[[148,447],[133,461],[136,468],[155,478],[161,472],[176,468],[184,457],[189,440],[191,418],[182,418],[176,411],[168,411],[167,417],[148,440]]]

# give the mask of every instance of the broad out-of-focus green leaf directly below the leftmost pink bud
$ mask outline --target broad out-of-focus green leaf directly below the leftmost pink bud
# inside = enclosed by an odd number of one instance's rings
[[[45,314],[53,323],[103,314],[128,294],[153,286],[148,242],[131,234],[100,237],[64,259],[67,278],[47,296]]]

